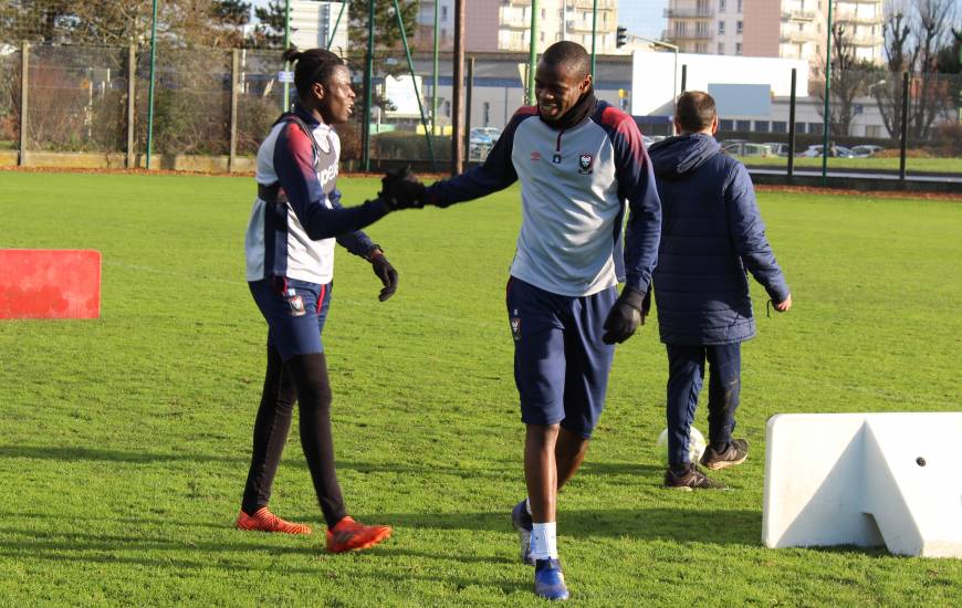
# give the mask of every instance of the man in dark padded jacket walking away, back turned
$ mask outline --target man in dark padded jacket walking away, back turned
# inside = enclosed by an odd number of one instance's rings
[[[681,135],[648,150],[662,205],[653,285],[669,366],[665,485],[723,489],[689,458],[704,361],[710,366],[710,444],[701,463],[711,470],[741,464],[747,442],[732,439],[741,343],[755,335],[746,271],[765,287],[776,311],[792,306],[792,294],[765,239],[749,171],[714,140],[714,99],[697,91],[683,93],[675,125]]]

